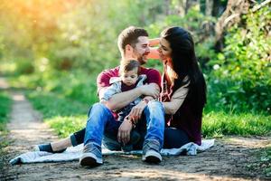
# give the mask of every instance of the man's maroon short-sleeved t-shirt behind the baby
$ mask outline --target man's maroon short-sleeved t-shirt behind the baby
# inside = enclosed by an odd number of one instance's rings
[[[99,92],[101,88],[110,86],[110,83],[109,83],[110,79],[112,77],[118,77],[119,76],[118,71],[119,71],[119,66],[113,69],[108,69],[108,70],[100,72],[97,77],[97,89],[98,89],[97,91]],[[155,69],[141,67],[140,74],[146,75],[147,77],[145,81],[146,83],[156,83],[158,86],[161,85],[161,75],[159,71]],[[125,88],[123,89],[124,91],[126,91]]]

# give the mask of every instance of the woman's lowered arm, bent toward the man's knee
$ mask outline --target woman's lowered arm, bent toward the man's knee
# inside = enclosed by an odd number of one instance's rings
[[[173,115],[176,113],[177,110],[180,109],[183,101],[185,100],[185,98],[187,96],[187,93],[189,90],[189,88],[188,88],[189,83],[190,82],[186,83],[181,88],[176,90],[173,93],[173,97],[172,97],[171,101],[163,102],[164,110],[165,110],[166,114]]]

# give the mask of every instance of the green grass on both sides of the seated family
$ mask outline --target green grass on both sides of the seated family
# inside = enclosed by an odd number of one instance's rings
[[[83,128],[86,124],[89,105],[70,100],[57,94],[42,91],[27,93],[35,109],[40,110],[46,122],[61,136]],[[265,136],[271,132],[271,116],[255,113],[228,113],[209,111],[203,116],[202,133],[204,137],[224,135]]]

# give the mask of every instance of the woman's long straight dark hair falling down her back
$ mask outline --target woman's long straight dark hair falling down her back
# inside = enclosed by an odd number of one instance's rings
[[[188,96],[192,99],[192,110],[195,116],[201,117],[206,103],[206,83],[197,62],[192,35],[180,27],[170,27],[165,29],[161,36],[170,43],[173,70],[178,74],[173,91],[185,84],[183,79],[188,76]]]

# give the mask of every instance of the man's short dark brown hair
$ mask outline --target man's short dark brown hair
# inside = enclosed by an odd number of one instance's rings
[[[117,46],[122,55],[125,53],[127,44],[135,48],[139,36],[149,36],[149,34],[143,28],[129,26],[118,35]]]

